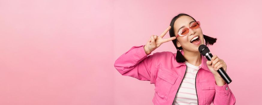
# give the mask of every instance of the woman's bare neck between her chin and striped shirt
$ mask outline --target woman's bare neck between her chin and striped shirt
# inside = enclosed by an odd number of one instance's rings
[[[188,63],[195,66],[199,66],[202,61],[200,52],[189,52],[184,50],[184,57],[187,59]]]

